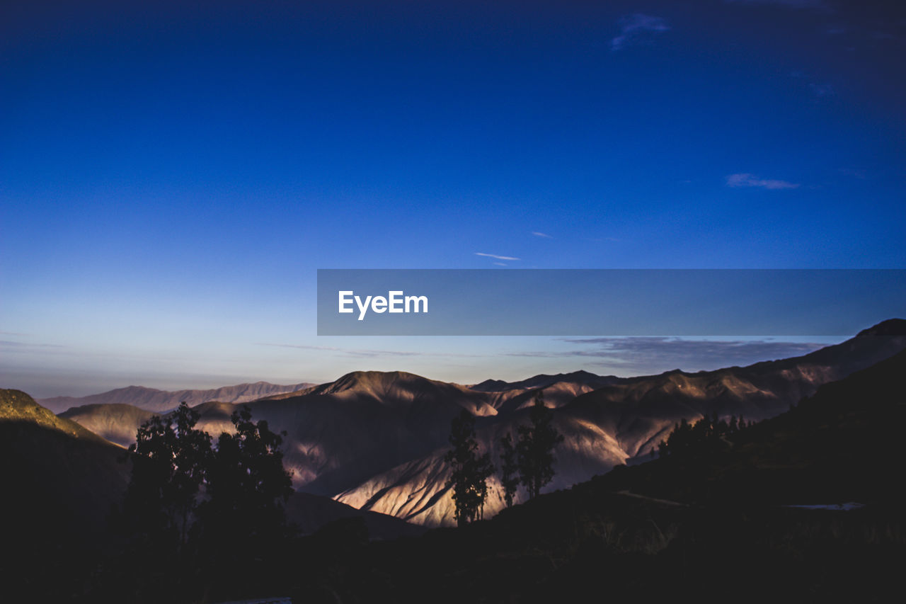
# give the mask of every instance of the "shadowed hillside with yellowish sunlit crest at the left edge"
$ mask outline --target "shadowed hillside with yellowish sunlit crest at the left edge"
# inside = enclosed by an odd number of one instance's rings
[[[67,599],[112,538],[107,517],[130,466],[115,444],[58,418],[18,390],[0,390],[0,581]],[[53,578],[48,583],[48,578]]]

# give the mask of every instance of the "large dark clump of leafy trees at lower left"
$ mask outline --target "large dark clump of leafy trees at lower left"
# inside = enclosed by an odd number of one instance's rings
[[[283,437],[253,422],[247,406],[231,419],[235,432],[221,434],[216,448],[185,403],[139,428],[123,513],[113,520],[129,560],[116,574],[134,586],[136,601],[169,601],[170,591],[207,600],[209,589],[266,583],[289,547]]]

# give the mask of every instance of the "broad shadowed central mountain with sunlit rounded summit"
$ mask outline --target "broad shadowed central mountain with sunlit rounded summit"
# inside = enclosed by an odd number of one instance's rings
[[[489,398],[419,375],[369,371],[248,406],[254,418],[286,431],[284,463],[294,486],[334,495],[446,443],[461,409],[496,414]],[[203,409],[199,425],[219,434],[228,427],[227,411]]]

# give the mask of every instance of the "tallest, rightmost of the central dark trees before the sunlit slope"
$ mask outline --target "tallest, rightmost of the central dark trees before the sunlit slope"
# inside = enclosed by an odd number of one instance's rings
[[[535,393],[529,420],[531,424],[518,428],[516,455],[519,481],[528,490],[528,498],[534,499],[542,487],[554,479],[554,447],[562,443],[564,437],[554,428],[554,414],[545,406],[540,390]]]

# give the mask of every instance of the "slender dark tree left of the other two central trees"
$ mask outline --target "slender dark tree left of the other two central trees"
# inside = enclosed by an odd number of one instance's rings
[[[480,520],[484,513],[487,497],[487,478],[494,473],[494,465],[488,453],[477,454],[475,441],[475,417],[463,409],[450,423],[449,443],[452,449],[444,461],[452,472],[446,487],[453,488],[453,502],[456,503],[458,526]]]

